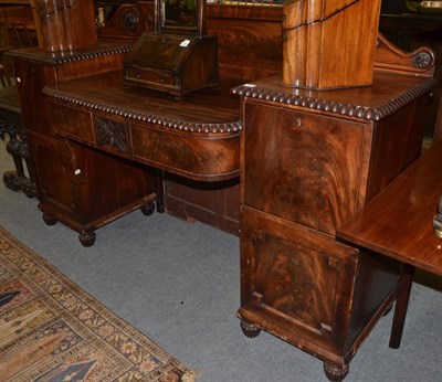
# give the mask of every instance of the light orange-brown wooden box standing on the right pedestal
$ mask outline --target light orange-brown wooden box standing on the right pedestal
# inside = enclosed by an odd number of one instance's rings
[[[282,83],[314,89],[371,85],[380,0],[287,0]]]

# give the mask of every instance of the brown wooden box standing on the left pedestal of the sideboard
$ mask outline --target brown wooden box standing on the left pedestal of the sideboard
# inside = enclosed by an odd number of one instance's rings
[[[97,43],[92,1],[32,0],[39,14],[43,49],[74,51]]]

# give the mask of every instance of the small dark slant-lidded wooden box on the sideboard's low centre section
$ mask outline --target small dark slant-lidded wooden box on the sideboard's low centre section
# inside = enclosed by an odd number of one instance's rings
[[[175,96],[218,86],[217,38],[144,33],[125,61],[125,84]]]

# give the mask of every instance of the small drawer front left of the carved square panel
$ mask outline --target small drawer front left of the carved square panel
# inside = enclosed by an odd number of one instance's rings
[[[49,102],[48,118],[52,129],[59,135],[86,144],[95,140],[90,112]]]

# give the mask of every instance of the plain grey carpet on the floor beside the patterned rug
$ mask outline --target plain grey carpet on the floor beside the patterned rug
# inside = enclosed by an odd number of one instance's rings
[[[0,144],[0,174],[13,168]],[[109,191],[110,192],[110,191]],[[96,232],[93,247],[62,224],[48,226],[36,200],[0,184],[0,224],[78,286],[200,372],[199,382],[327,381],[318,359],[262,332],[242,335],[239,238],[200,223],[139,211]],[[392,314],[350,363],[345,381],[442,381],[442,287],[413,285],[400,349],[388,347]],[[0,359],[1,369],[1,359]]]

